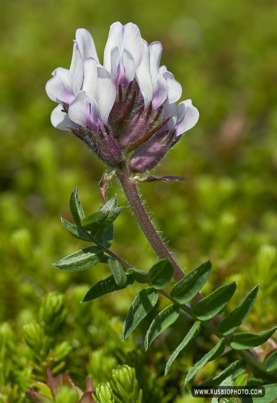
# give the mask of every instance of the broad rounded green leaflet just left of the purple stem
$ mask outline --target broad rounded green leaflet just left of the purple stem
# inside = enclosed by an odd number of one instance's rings
[[[149,269],[148,275],[151,278],[152,287],[160,290],[170,282],[174,273],[173,264],[169,259],[161,259]]]

